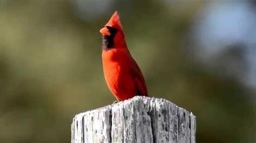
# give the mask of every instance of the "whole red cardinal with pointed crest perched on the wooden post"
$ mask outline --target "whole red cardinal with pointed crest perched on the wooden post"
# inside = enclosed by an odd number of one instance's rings
[[[99,32],[103,35],[104,76],[112,94],[118,101],[124,101],[136,95],[147,96],[142,71],[127,48],[117,11]]]

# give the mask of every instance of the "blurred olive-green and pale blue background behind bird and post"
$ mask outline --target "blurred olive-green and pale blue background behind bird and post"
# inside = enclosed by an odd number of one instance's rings
[[[118,10],[151,97],[197,116],[197,142],[256,141],[255,1],[0,0],[0,142],[70,142],[112,104],[101,35]]]

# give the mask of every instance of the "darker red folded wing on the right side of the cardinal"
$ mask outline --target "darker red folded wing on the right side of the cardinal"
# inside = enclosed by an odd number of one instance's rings
[[[135,60],[132,61],[131,75],[134,82],[134,87],[136,87],[138,95],[147,96],[147,87],[142,75],[142,71],[140,70],[137,62]]]

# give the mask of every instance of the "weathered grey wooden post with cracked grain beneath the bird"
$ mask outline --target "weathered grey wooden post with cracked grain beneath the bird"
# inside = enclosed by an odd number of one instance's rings
[[[196,117],[160,98],[136,96],[73,118],[71,142],[196,142]]]

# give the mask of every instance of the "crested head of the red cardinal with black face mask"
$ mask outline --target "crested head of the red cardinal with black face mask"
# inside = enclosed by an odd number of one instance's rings
[[[109,22],[99,31],[103,35],[103,49],[122,48],[125,44],[123,27],[118,12],[114,12]],[[125,44],[126,45],[126,44]]]

